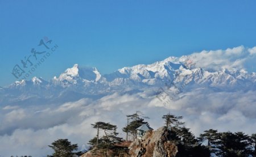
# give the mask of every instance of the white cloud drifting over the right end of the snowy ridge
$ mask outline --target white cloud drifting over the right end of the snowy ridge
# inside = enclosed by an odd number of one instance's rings
[[[250,71],[251,66],[255,66],[256,47],[238,46],[226,50],[203,50],[202,52],[193,53],[191,56],[193,56],[196,67],[206,70],[232,70],[236,68]]]

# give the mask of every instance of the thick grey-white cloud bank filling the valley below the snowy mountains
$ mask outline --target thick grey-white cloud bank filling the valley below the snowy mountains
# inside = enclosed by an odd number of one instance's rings
[[[106,121],[118,126],[121,131],[126,124],[126,114],[142,111],[150,117],[152,128],[163,126],[162,115],[171,112],[184,116],[185,126],[199,135],[203,130],[214,128],[219,131],[256,130],[255,92],[208,92],[207,89],[180,94],[181,99],[163,104],[144,91],[133,95],[115,93],[97,101],[81,99],[60,106],[10,108],[1,112],[2,156],[32,155],[46,156],[54,140],[68,138],[80,148],[96,135],[90,124]],[[9,108],[9,109],[6,109]]]

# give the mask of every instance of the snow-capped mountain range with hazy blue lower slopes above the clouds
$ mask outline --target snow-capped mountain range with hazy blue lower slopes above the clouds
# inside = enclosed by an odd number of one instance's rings
[[[187,84],[184,91],[194,88],[214,90],[255,90],[255,73],[243,69],[207,71],[195,67],[190,56],[169,57],[150,65],[123,67],[102,75],[96,67],[75,64],[59,77],[47,81],[34,77],[0,87],[0,105],[26,103],[64,103],[82,97],[102,97],[113,92],[128,92],[154,88],[155,94],[166,83]],[[200,65],[199,65],[200,66]],[[44,100],[44,101],[39,101]]]

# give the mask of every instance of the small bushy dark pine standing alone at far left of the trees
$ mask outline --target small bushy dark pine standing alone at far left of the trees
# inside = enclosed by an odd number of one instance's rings
[[[51,155],[52,157],[71,157],[76,154],[73,151],[76,151],[78,148],[77,144],[71,145],[71,142],[69,142],[68,139],[58,139],[49,147],[55,151]]]

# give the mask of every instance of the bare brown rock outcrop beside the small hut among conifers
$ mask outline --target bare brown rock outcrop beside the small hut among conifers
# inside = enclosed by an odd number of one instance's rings
[[[148,131],[142,139],[136,139],[129,147],[130,156],[134,157],[175,157],[177,146],[168,141],[165,127]]]

